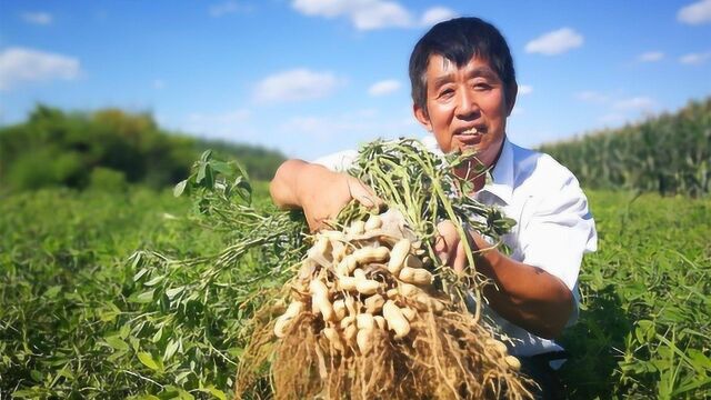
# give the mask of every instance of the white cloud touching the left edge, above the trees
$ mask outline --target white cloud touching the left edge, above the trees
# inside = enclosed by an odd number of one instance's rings
[[[79,59],[26,48],[9,48],[0,52],[0,90],[10,90],[22,82],[79,77]]]

